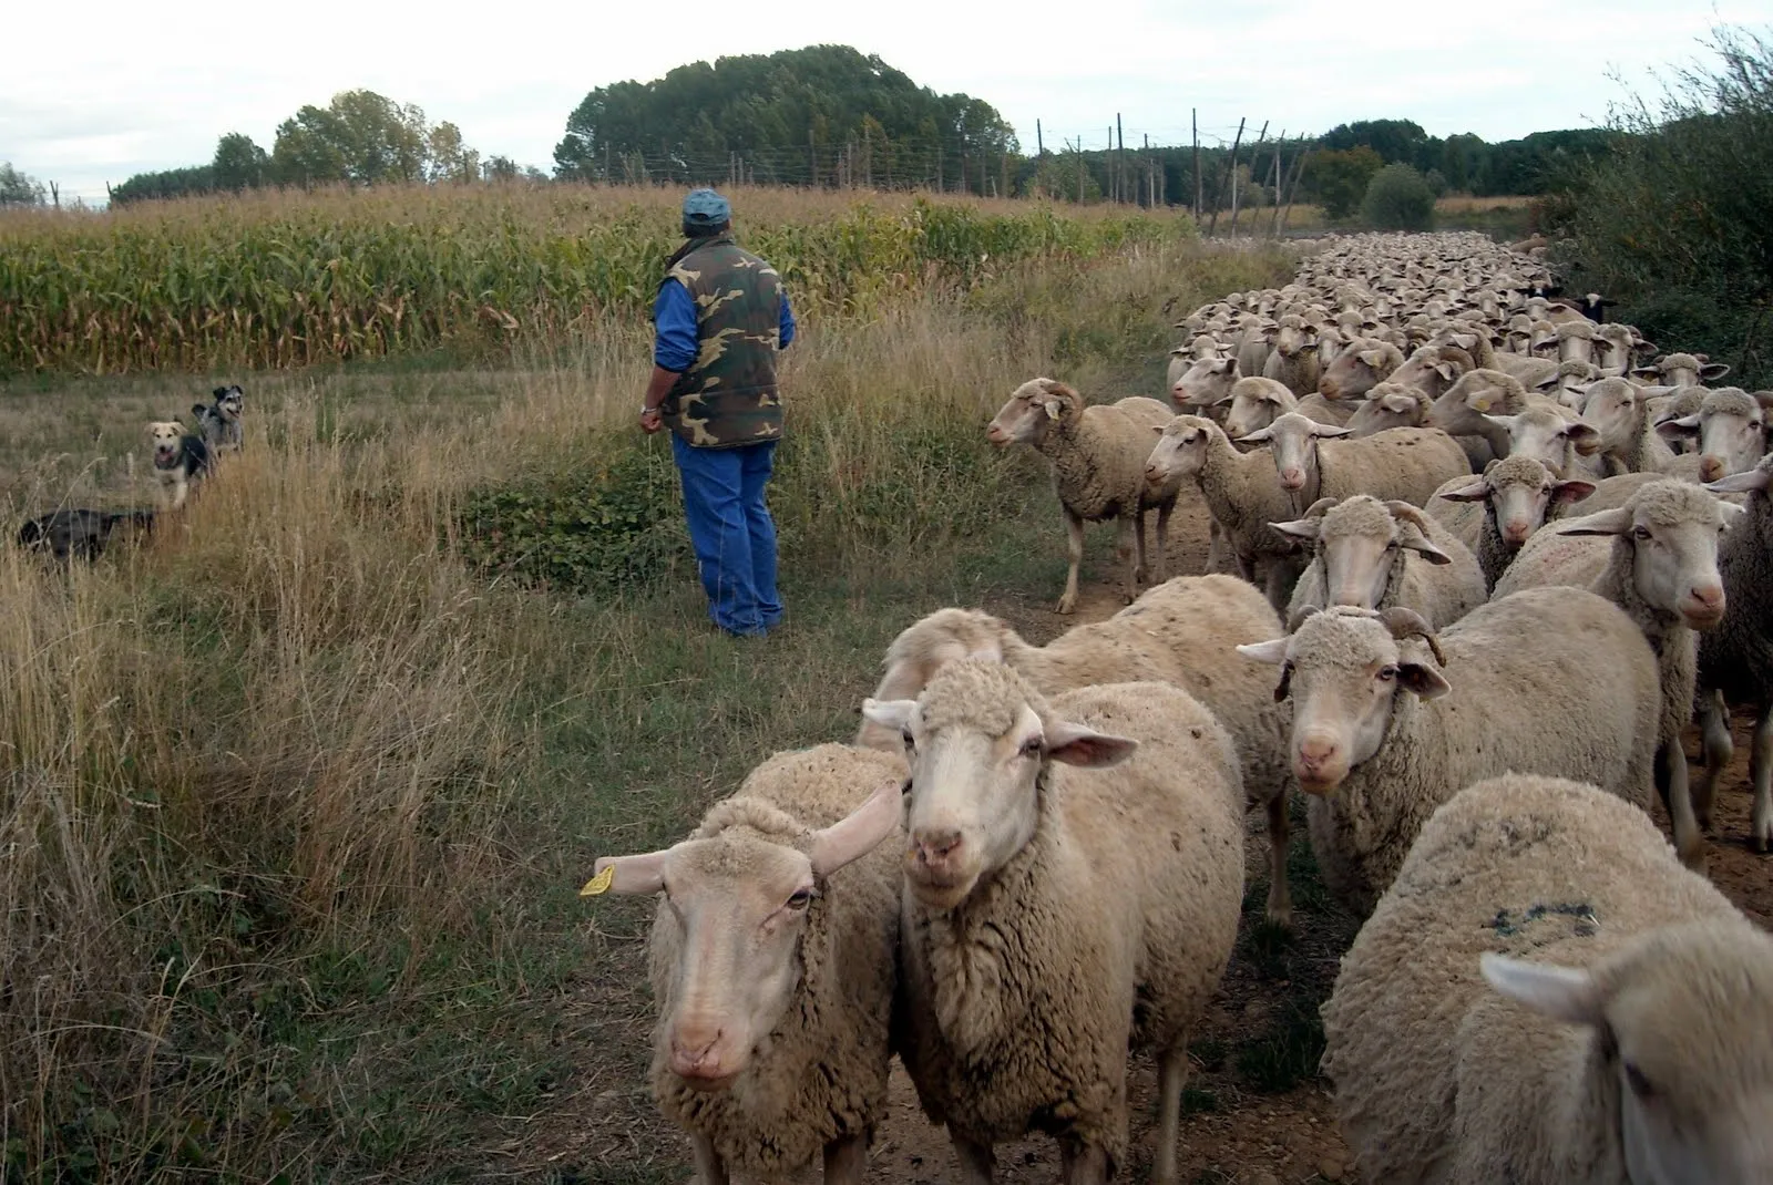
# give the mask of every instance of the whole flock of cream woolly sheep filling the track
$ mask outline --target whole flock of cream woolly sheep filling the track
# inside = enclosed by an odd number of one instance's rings
[[[1294,786],[1365,916],[1323,1008],[1363,1180],[1773,1180],[1773,939],[1702,875],[1725,700],[1761,712],[1773,841],[1773,393],[1707,390],[1722,367],[1541,273],[1482,236],[1340,239],[1183,322],[1175,407],[1009,399],[988,438],[1051,462],[1060,611],[1087,521],[1117,523],[1131,604],[1044,647],[915,622],[853,744],[769,758],[585,886],[663,895],[652,1088],[700,1181],[862,1181],[897,1054],[966,1181],[1044,1132],[1094,1185],[1128,1158],[1129,1049],[1175,1181],[1245,809],[1291,925]],[[1236,574],[1163,579],[1183,485]]]

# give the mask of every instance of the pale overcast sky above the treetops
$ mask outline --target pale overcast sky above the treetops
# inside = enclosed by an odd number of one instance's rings
[[[105,197],[129,174],[204,163],[243,131],[269,151],[303,103],[369,87],[454,120],[482,154],[553,168],[566,117],[592,87],[658,78],[725,53],[842,43],[922,85],[995,105],[1034,149],[1229,140],[1269,120],[1323,131],[1415,119],[1431,135],[1509,140],[1606,120],[1654,71],[1704,57],[1714,23],[1773,25],[1773,0],[764,0],[755,5],[410,5],[309,0],[96,0],[9,5],[0,161],[64,193]]]

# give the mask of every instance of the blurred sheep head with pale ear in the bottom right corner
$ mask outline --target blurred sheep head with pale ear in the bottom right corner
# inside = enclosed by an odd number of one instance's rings
[[[1681,925],[1596,967],[1482,957],[1498,994],[1590,1031],[1585,1082],[1619,1100],[1633,1185],[1773,1180],[1773,944],[1743,926]]]

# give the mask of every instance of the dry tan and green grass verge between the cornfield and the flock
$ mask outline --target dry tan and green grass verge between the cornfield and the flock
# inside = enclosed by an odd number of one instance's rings
[[[1044,600],[1057,515],[984,450],[991,406],[1039,370],[1154,390],[1165,299],[1287,273],[1129,246],[814,310],[773,492],[793,629],[762,648],[700,629],[681,570],[562,595],[463,560],[479,491],[660,450],[629,425],[645,335],[613,319],[509,372],[250,379],[248,448],[145,547],[67,572],[7,547],[0,1176],[475,1180],[569,1073],[613,1091],[594,1176],[677,1155],[645,1128],[640,969],[585,930],[574,873],[847,735],[910,615]],[[43,395],[92,420],[32,443],[67,461],[27,489],[90,475],[183,386]]]

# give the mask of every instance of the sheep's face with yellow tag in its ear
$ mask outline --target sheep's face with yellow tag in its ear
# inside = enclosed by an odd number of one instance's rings
[[[676,932],[667,946],[677,962],[667,972],[656,1040],[672,1073],[709,1091],[745,1073],[800,987],[800,946],[823,879],[871,852],[897,822],[899,786],[888,785],[814,831],[805,852],[729,827],[596,863],[599,877],[610,877],[603,891],[665,895],[654,925]]]

